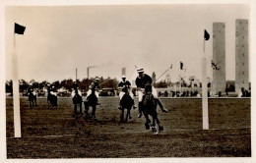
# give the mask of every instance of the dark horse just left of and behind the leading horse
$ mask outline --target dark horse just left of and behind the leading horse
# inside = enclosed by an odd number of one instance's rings
[[[125,118],[125,121],[127,122],[128,121],[128,117],[129,119],[131,119],[131,108],[133,106],[133,99],[132,97],[130,96],[129,94],[129,90],[128,90],[128,87],[125,86],[122,91],[124,92],[124,95],[122,97],[122,99],[120,100],[120,105],[121,105],[121,108],[120,110],[122,111],[121,113],[121,120],[120,121],[123,121],[123,118],[124,118],[124,109],[127,109],[127,113],[126,113],[126,118]]]

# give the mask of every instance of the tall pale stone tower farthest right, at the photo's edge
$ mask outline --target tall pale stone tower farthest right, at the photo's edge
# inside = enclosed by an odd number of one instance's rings
[[[249,89],[248,20],[235,21],[235,91]]]

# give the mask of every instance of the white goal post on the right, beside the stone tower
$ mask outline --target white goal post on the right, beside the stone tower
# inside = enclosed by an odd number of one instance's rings
[[[205,54],[205,39],[204,39],[204,54],[202,58],[202,109],[203,109],[203,130],[209,129],[208,116],[208,91],[207,91],[207,59]]]

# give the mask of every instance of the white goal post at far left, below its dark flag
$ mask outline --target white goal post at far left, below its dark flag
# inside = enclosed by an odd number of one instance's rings
[[[21,113],[20,113],[20,91],[18,77],[18,59],[16,54],[16,35],[14,33],[14,51],[13,51],[13,106],[14,106],[14,135],[21,137]]]

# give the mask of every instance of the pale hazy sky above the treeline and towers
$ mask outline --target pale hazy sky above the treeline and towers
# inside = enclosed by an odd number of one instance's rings
[[[178,76],[201,79],[202,57],[212,77],[213,23],[225,24],[226,80],[235,79],[235,20],[249,20],[247,5],[115,5],[6,7],[6,80],[12,78],[12,55],[18,56],[19,79],[62,81],[110,77],[121,79],[126,68],[135,80],[135,66],[157,79],[171,65],[171,81]],[[15,34],[14,23],[27,27]],[[249,22],[250,24],[250,22]],[[205,42],[204,29],[210,33]],[[250,32],[250,30],[249,30]],[[15,39],[15,40],[14,40]],[[14,46],[15,41],[15,46]],[[250,44],[249,44],[250,46]],[[250,55],[250,54],[249,54]],[[180,71],[179,63],[186,71]],[[249,65],[250,66],[250,65]],[[205,69],[205,68],[204,68]],[[250,79],[249,79],[250,80]]]

